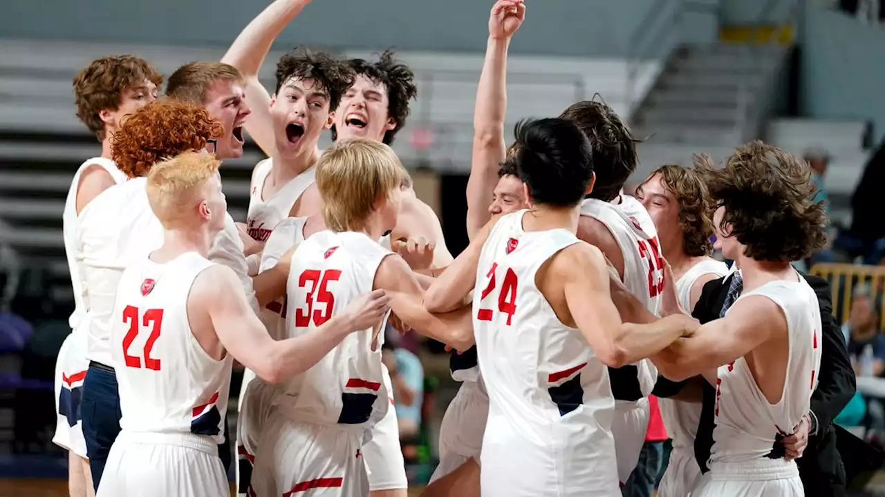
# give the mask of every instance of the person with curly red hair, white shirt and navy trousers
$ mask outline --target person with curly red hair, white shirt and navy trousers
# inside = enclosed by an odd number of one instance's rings
[[[158,131],[162,130],[162,131]],[[162,226],[153,215],[145,192],[146,175],[162,157],[173,157],[183,151],[213,148],[216,137],[223,135],[219,122],[211,119],[202,108],[177,102],[155,102],[136,111],[114,136],[112,157],[120,171],[130,180],[108,188],[81,213],[81,231],[78,241],[83,257],[83,276],[90,293],[92,318],[89,324],[89,374],[84,385],[84,432],[95,436],[95,446],[89,446],[90,466],[94,483],[100,482],[100,471],[107,450],[119,432],[117,382],[109,345],[112,309],[116,287],[123,270],[135,260],[147,256],[162,242]],[[223,242],[220,240],[224,240]],[[239,261],[227,256],[236,253]],[[233,247],[230,250],[218,246]],[[222,254],[217,259],[229,264],[235,271],[244,271],[242,244],[233,219],[225,216],[222,230],[212,253]],[[216,261],[213,261],[216,262]],[[256,277],[258,292],[252,297],[268,302],[285,287],[288,268],[270,271]],[[251,281],[244,287],[252,293]],[[90,428],[91,427],[91,428]],[[88,440],[89,444],[89,440]],[[96,457],[93,457],[93,455]]]

